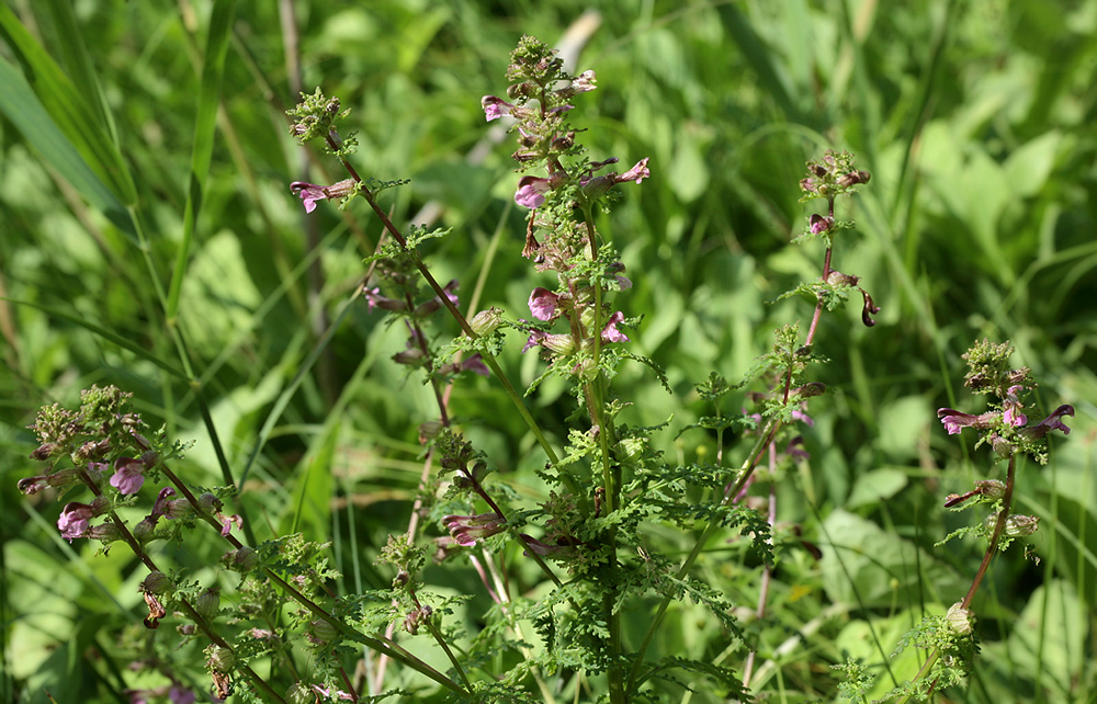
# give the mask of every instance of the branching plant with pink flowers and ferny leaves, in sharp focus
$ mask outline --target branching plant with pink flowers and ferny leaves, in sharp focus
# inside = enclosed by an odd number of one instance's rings
[[[542,277],[529,291],[529,317],[498,307],[462,310],[459,282],[441,283],[420,251],[448,232],[397,227],[377,196],[404,182],[359,174],[351,162],[355,140],[339,128],[348,111],[338,99],[317,90],[290,113],[291,134],[302,144],[321,141],[348,174],[330,185],[294,182],[291,193],[307,213],[325,201],[369,204],[387,241],[367,260],[358,294],[370,311],[400,326],[406,345],[394,361],[421,374],[437,401],[437,415],[419,427],[423,480],[412,514],[378,557],[389,589],[337,593],[324,536],[256,543],[249,516],[225,508],[231,487],[195,487],[177,475],[172,462],[185,448],[162,431],[149,432],[129,411],[127,395],[114,387],[92,387],[77,410],[52,406],[38,415],[33,456],[49,468],[21,480],[20,489],[66,498],[81,487],[90,491],[65,504],[57,522],[61,536],[100,541],[104,552],[122,543],[148,570],[140,583],[145,628],[156,632],[165,618],[177,624],[173,637],[157,632],[133,639],[135,651],[145,650],[135,656],[135,667],[157,670],[170,682],[135,694],[142,701],[194,701],[202,688],[188,674],[186,659],[196,647],[203,648],[206,688],[217,699],[235,692],[240,701],[623,704],[664,701],[683,688],[705,701],[751,697],[757,655],[740,617],[766,614],[776,555],[785,549],[780,546],[818,553],[796,538],[795,526],[778,523],[774,487],[806,456],[802,429],[813,422],[811,399],[826,393],[814,373],[825,362],[816,351],[819,321],[857,294],[861,323],[872,327],[880,311],[861,279],[835,266],[836,245],[852,228],[836,204],[870,175],[847,152],[828,150],[807,163],[801,201],[824,206],[806,218],[798,239],[823,243],[821,273],[782,296],[813,302],[806,332],[796,322],[780,328],[771,351],[737,384],[715,373],[698,383],[698,398],[710,411],[679,435],[704,433],[714,439],[715,453],[711,461],[676,461],[657,450],[669,420],[629,424],[634,401],[614,386],[632,363],[667,382],[636,350],[632,336],[643,311],[630,306],[632,274],[597,226],[657,166],[645,157],[618,170],[617,157],[587,154],[573,115],[597,87],[593,71],[572,76],[545,44],[523,37],[507,79],[504,95],[487,95],[482,106],[489,122],[512,121],[518,140],[513,158],[522,175],[513,201],[525,214],[521,254]],[[440,322],[445,317],[460,329],[449,339]],[[535,353],[542,363],[524,393],[500,364],[504,355],[521,353]],[[949,433],[981,433],[980,444],[1005,458],[1008,469],[1004,481],[982,480],[947,501],[991,506],[991,516],[968,530],[985,536],[988,547],[966,597],[947,617],[911,636],[912,643],[931,644],[935,655],[909,686],[896,691],[901,696],[925,696],[952,683],[970,662],[972,599],[991,557],[1036,527],[1036,519],[1011,512],[1017,458],[1042,461],[1044,436],[1068,432],[1061,421],[1073,415],[1068,406],[1029,423],[1033,385],[1028,370],[1008,368],[1010,353],[1008,345],[983,342],[965,357],[965,385],[998,399],[991,411],[939,413]],[[539,445],[540,500],[500,480],[494,474],[498,458],[477,448],[454,419],[451,397],[468,375],[497,385]],[[527,404],[550,378],[562,381],[574,398],[564,433],[550,430],[561,419],[538,418]],[[146,510],[140,520],[126,518]],[[212,530],[226,543],[220,567],[239,576],[229,598],[224,584],[191,580],[182,564],[169,565],[167,553],[150,548],[169,541],[185,552],[188,534],[199,530]],[[746,538],[739,548],[761,566],[749,605],[719,590],[700,569],[708,550],[739,536]],[[472,565],[491,600],[488,609],[470,613],[474,594],[442,593],[430,587],[437,578],[425,577],[428,569],[457,565]],[[663,626],[669,610],[689,602],[721,629],[728,646],[723,652],[693,657],[675,650]],[[636,612],[645,617],[624,618]],[[846,666],[853,697],[863,692],[857,668]]]

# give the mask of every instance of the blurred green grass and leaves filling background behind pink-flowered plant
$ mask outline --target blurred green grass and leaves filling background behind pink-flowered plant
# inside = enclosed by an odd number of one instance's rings
[[[522,33],[555,42],[590,8],[283,4],[293,5],[296,34],[280,3],[236,7],[223,65],[207,42],[217,25],[210,2],[5,8],[4,701],[46,701],[45,690],[61,702],[118,701],[135,685],[117,636],[139,621],[143,575],[121,550],[104,558],[60,540],[55,497],[24,501],[15,491],[32,468],[34,410],[71,404],[93,383],[134,393],[151,424],[193,439],[183,472],[196,484],[220,482],[215,429],[235,476],[246,473],[240,500],[260,538],[330,535],[344,589],[391,580],[373,558],[406,526],[421,472],[416,429],[434,411],[419,379],[389,360],[402,331],[354,297],[377,223],[359,203],[306,217],[289,193],[293,180],[341,178],[286,134],[297,89],[323,86],[353,110],[360,171],[411,179],[384,193],[395,220],[431,204],[454,228],[426,254],[439,280],[460,279],[463,303],[485,270],[480,308],[520,317],[544,284],[520,257],[512,147],[482,145],[479,98],[505,86]],[[982,546],[934,547],[963,521],[941,503],[991,463],[987,451],[948,438],[935,409],[980,410],[957,395],[959,355],[989,337],[1014,341],[1047,409],[1073,404],[1078,415],[1047,467],[1022,467],[1018,509],[1043,518],[1032,541],[1041,561],[1019,547],[995,560],[976,602],[976,671],[948,695],[1092,699],[1097,2],[627,1],[597,21],[578,64],[599,79],[579,120],[591,157],[649,156],[653,172],[601,227],[635,284],[620,298],[626,315],[645,314],[634,344],[675,391],[626,370],[627,422],[692,422],[708,412],[693,384],[711,370],[739,378],[774,328],[807,319],[808,300],[767,303],[818,275],[822,245],[789,246],[805,215],[804,161],[844,148],[873,175],[842,203],[859,232],[839,243],[835,266],[862,276],[883,311],[872,329],[856,307],[824,318],[830,394],[813,405],[810,462],[777,487],[779,519],[801,524],[823,557],[795,545],[782,553],[767,615],[749,623],[759,647],[753,686],[782,701],[832,701],[837,674],[827,666],[847,655],[881,662],[923,614],[962,595]],[[23,68],[35,59],[16,25],[63,72]],[[70,135],[69,151],[58,146],[20,75],[39,95],[68,101],[83,144]],[[471,160],[478,149],[483,160]],[[144,238],[125,226],[126,207]],[[169,326],[188,341],[185,364]],[[517,350],[501,361],[524,383],[538,373]],[[465,385],[459,421],[519,492],[541,496],[533,470],[543,458],[491,389]],[[573,402],[562,391],[548,383],[532,399],[557,433]],[[694,432],[665,450],[703,457],[712,444]],[[760,566],[748,555],[728,545],[700,569],[753,611]],[[471,569],[438,587],[474,594],[470,618],[487,606]],[[667,632],[683,652],[738,667],[743,652],[716,624],[690,606],[671,613]],[[646,616],[633,617],[638,627]],[[882,686],[917,665],[907,652],[877,670]]]

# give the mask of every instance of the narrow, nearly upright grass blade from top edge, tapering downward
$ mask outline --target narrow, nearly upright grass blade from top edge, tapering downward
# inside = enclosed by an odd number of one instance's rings
[[[210,33],[206,37],[205,55],[202,59],[202,87],[199,94],[199,111],[194,121],[194,146],[191,151],[191,178],[186,190],[186,211],[183,215],[183,241],[179,248],[171,287],[168,292],[168,319],[179,313],[179,296],[183,288],[183,275],[190,259],[194,225],[202,211],[202,193],[210,161],[213,158],[213,140],[217,127],[217,105],[220,102],[220,83],[225,72],[225,55],[236,14],[236,0],[216,2],[210,18]]]

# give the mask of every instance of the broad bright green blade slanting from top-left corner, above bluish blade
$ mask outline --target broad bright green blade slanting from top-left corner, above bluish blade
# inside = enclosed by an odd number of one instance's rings
[[[41,105],[100,181],[124,206],[136,203],[137,189],[129,170],[114,143],[95,120],[94,112],[84,103],[72,81],[5,4],[0,4],[0,34],[3,34],[23,65],[25,75],[31,77],[27,82],[33,87]],[[3,92],[8,92],[7,89]],[[4,102],[11,101],[9,99]],[[5,109],[12,122],[16,122],[12,112],[20,112],[22,105],[16,103],[14,107],[14,111]]]

